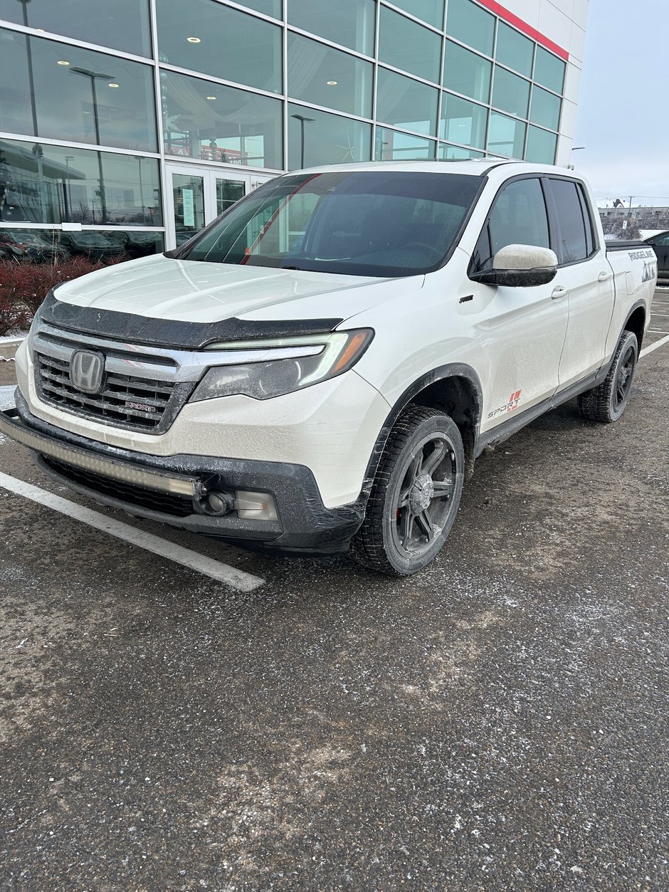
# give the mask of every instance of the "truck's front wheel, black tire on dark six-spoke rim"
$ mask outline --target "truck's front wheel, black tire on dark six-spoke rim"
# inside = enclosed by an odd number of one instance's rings
[[[405,409],[385,444],[365,520],[351,541],[352,557],[390,576],[422,570],[458,513],[464,469],[453,419],[440,409]]]

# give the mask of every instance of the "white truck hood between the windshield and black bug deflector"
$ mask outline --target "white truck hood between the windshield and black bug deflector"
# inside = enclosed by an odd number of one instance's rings
[[[417,291],[425,277],[369,278],[246,267],[162,254],[106,267],[58,287],[58,301],[183,322],[349,318]]]

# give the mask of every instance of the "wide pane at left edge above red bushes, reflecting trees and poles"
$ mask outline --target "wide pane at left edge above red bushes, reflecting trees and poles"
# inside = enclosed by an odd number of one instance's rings
[[[0,220],[162,226],[158,161],[0,139]]]

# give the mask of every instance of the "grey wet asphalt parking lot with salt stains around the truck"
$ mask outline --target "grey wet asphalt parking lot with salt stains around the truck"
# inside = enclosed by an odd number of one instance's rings
[[[669,888],[669,289],[651,328],[623,419],[482,457],[399,582],[132,521],[0,438],[55,506],[0,477],[0,888]]]

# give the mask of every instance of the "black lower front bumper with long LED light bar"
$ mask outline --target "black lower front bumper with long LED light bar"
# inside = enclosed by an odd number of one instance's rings
[[[282,462],[200,455],[159,457],[70,434],[17,409],[0,412],[0,433],[27,446],[38,464],[70,489],[136,517],[247,548],[277,553],[332,554],[348,549],[365,513],[367,493],[326,508],[310,468]],[[206,513],[209,491],[269,492],[276,520]]]

